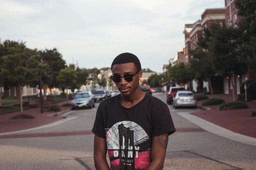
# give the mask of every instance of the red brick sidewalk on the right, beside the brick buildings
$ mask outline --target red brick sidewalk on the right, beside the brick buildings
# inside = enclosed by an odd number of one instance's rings
[[[211,95],[208,95],[211,98]],[[221,98],[227,102],[233,100],[232,95],[215,94],[214,98]],[[198,101],[197,105],[202,106],[203,101]],[[251,111],[256,110],[255,102],[246,102],[249,108],[236,110],[218,110],[219,105],[202,106],[209,107],[210,110],[202,110],[191,113],[199,118],[210,121],[218,126],[226,128],[230,131],[255,137],[256,138],[256,117],[251,117]]]

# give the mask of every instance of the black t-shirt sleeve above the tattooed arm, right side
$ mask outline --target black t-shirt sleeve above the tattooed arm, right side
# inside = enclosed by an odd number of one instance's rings
[[[154,113],[152,119],[152,137],[173,134],[176,131],[169,107],[164,103]]]

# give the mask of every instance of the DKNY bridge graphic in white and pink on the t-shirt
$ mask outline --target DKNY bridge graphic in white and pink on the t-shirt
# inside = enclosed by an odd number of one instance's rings
[[[142,170],[150,164],[150,140],[132,121],[121,121],[106,129],[111,170]]]

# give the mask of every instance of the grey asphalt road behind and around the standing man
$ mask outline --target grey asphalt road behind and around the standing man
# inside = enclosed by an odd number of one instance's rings
[[[162,93],[153,96],[166,102]],[[0,139],[0,170],[95,169],[91,129],[98,105],[68,112],[43,128],[17,133],[26,137]],[[169,136],[164,169],[256,169],[256,147],[206,132],[177,114],[199,109],[169,108],[177,132]]]

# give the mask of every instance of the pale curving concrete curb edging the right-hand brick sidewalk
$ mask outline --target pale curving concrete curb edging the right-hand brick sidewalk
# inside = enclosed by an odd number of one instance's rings
[[[223,127],[215,125],[207,120],[201,119],[201,118],[191,115],[187,112],[177,112],[177,114],[182,116],[183,118],[191,121],[192,123],[195,123],[197,126],[201,127],[202,129],[204,129],[210,133],[228,138],[230,140],[234,140],[236,142],[256,146],[256,138],[254,138],[254,137],[250,137],[250,136],[232,132],[228,129],[225,129]]]

